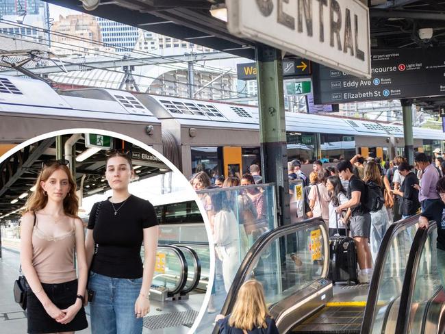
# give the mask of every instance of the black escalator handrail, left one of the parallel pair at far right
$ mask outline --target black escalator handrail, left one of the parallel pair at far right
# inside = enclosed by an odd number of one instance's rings
[[[361,322],[361,334],[371,333],[372,325],[374,323],[374,313],[378,301],[377,298],[379,297],[380,279],[383,274],[383,266],[385,265],[387,253],[391,249],[392,241],[400,231],[403,231],[416,224],[418,220],[419,215],[417,214],[405,220],[394,222],[387,228],[387,231],[380,244],[379,252],[377,253],[377,259],[375,260],[374,264],[374,272],[372,272],[368,300],[366,302],[364,317]]]

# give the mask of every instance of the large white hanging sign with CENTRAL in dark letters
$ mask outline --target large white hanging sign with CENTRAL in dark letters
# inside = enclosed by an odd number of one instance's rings
[[[226,0],[231,34],[371,77],[369,10],[360,0]]]

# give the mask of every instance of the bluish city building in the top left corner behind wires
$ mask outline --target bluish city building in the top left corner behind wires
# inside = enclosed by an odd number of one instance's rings
[[[40,0],[0,1],[0,32],[15,38],[51,44],[48,3]],[[33,27],[31,27],[33,26]]]

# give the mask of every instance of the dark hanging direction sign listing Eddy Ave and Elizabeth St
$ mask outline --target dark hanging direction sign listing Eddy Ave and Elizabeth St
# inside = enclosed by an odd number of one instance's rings
[[[314,66],[315,102],[381,101],[445,94],[445,48],[372,52],[372,78]]]

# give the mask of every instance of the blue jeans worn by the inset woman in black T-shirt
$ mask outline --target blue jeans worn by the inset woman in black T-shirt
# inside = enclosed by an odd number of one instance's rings
[[[140,279],[116,279],[91,272],[88,287],[94,291],[90,303],[91,333],[141,334],[142,318],[136,318],[134,303]]]

